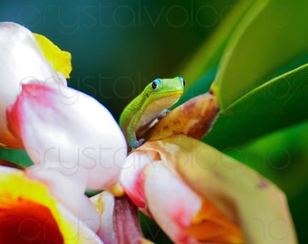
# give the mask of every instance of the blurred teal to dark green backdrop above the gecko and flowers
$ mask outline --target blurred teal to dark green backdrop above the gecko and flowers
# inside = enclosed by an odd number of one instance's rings
[[[236,1],[1,1],[0,20],[21,23],[72,53],[69,86],[119,117],[155,78],[180,75]]]

